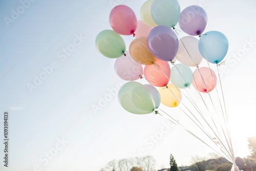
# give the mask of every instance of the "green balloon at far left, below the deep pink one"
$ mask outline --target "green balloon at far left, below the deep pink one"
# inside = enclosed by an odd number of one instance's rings
[[[126,50],[122,36],[113,30],[101,31],[96,37],[95,44],[98,51],[109,58],[118,58]]]

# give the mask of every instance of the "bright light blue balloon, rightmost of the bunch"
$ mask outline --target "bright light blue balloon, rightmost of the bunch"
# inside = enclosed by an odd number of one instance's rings
[[[210,63],[219,63],[228,51],[228,39],[219,31],[209,31],[201,35],[198,42],[200,54]]]

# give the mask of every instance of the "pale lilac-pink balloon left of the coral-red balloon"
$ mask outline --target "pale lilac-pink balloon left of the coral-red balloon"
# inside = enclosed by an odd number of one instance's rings
[[[116,58],[114,65],[116,74],[126,81],[139,79],[143,75],[142,65],[131,57],[129,51],[125,51],[125,54],[126,56]]]

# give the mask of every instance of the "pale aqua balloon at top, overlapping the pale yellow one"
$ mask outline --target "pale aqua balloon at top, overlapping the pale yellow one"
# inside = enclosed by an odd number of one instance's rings
[[[180,18],[180,4],[177,0],[154,0],[151,16],[157,25],[174,27]]]

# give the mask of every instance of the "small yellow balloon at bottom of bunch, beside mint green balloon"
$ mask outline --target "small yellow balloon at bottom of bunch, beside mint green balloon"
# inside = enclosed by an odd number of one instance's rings
[[[161,96],[161,103],[164,105],[174,108],[179,105],[181,100],[181,92],[174,84],[167,84],[164,88],[158,89]]]

